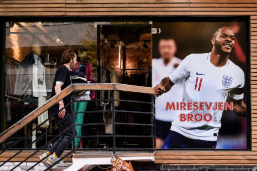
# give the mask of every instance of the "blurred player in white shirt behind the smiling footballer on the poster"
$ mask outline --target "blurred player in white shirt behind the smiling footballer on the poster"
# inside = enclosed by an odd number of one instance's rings
[[[160,83],[162,78],[169,76],[180,64],[181,59],[175,57],[177,52],[176,42],[173,39],[161,39],[159,41],[159,59],[153,59],[153,86]],[[171,128],[173,115],[178,111],[166,110],[166,103],[170,101],[182,101],[184,94],[183,81],[155,100],[156,114],[156,148],[162,148],[164,140]]]

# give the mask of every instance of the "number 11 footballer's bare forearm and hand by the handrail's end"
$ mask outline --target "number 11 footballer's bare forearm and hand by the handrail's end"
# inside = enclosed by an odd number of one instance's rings
[[[164,79],[162,79],[162,81],[160,82],[160,84],[157,84],[155,86],[155,94],[158,96],[162,95],[165,92],[168,92],[171,87],[174,84],[171,82],[169,77],[165,77]]]

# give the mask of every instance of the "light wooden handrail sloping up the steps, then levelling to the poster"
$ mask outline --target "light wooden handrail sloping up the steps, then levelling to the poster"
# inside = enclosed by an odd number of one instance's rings
[[[98,83],[98,84],[71,84],[62,90],[60,93],[56,94],[54,97],[49,99],[45,104],[39,106],[28,115],[23,117],[21,120],[13,124],[7,130],[0,134],[0,143],[4,142],[7,138],[15,134],[17,131],[22,129],[25,125],[37,118],[41,113],[48,110],[54,104],[58,103],[60,100],[71,94],[73,91],[81,90],[117,90],[117,91],[128,91],[136,93],[146,93],[154,94],[154,88],[136,86],[136,85],[127,85],[119,83]]]

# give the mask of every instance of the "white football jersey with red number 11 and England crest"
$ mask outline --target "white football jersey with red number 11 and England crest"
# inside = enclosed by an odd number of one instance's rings
[[[212,102],[211,108],[208,109],[186,108],[180,111],[174,116],[171,130],[192,139],[217,140],[223,110],[214,110],[214,104],[226,102],[228,95],[235,100],[243,98],[243,94],[230,92],[244,86],[243,71],[230,60],[222,67],[214,66],[210,62],[210,53],[191,54],[169,78],[174,84],[186,79],[183,102]]]

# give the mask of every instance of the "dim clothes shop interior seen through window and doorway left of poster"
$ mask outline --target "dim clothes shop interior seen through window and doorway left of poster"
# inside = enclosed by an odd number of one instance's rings
[[[22,23],[14,22],[6,24],[6,84],[5,84],[5,108],[2,113],[2,131],[16,123],[18,120],[33,111],[40,104],[37,98],[28,100],[22,90],[24,86],[17,87],[17,80],[23,75],[19,73],[20,68],[26,57],[34,52],[32,44],[40,47],[39,57],[42,59],[42,65],[45,68],[45,85],[48,100],[51,95],[52,81],[56,69],[61,65],[61,54],[65,49],[72,49],[77,53],[78,60],[85,66],[85,72],[88,74],[90,83],[123,83],[140,86],[152,86],[152,34],[151,25],[98,25],[94,23]],[[88,67],[88,68],[87,68]],[[111,78],[111,73],[115,77]],[[32,73],[30,73],[32,74]],[[114,79],[113,79],[114,78]],[[20,89],[22,93],[16,93]],[[33,90],[34,91],[34,90]],[[33,93],[33,92],[32,92]],[[91,99],[106,98],[108,92],[91,93]],[[138,95],[133,93],[115,92],[120,99],[134,99],[139,101],[151,101],[150,96]],[[27,96],[29,97],[29,96]],[[27,100],[27,101],[26,101]],[[99,102],[88,102],[86,111],[103,108]],[[115,104],[117,109],[130,108],[141,111],[150,110],[148,105],[137,105],[120,102]],[[48,115],[50,113],[48,112]],[[46,116],[48,117],[48,116]],[[104,122],[103,115],[86,113],[83,123]],[[35,120],[38,124],[40,118]],[[133,113],[116,113],[116,119],[122,122],[150,122],[149,116],[138,116]],[[27,139],[19,143],[15,148],[21,148],[33,139],[33,136],[40,136],[42,132],[51,128],[54,120],[40,127],[36,134],[28,134]],[[14,136],[2,146],[8,147],[14,140],[28,133],[35,125],[28,125],[18,131]],[[137,130],[137,126],[116,125],[120,132],[116,134],[129,135]],[[148,128],[144,131],[148,131]],[[82,135],[104,135],[106,133],[104,126],[83,126]],[[46,137],[36,142],[36,148],[42,143],[58,134],[58,130],[53,130]],[[122,146],[135,146],[139,144],[140,139],[117,138],[117,144]],[[3,144],[2,144],[3,145]],[[81,148],[94,148],[99,145],[106,145],[105,140],[95,138],[81,138]],[[142,144],[145,145],[145,144]]]

